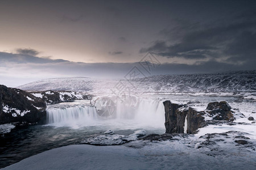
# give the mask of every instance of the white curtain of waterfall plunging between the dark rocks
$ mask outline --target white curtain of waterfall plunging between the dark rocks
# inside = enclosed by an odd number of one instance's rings
[[[136,107],[117,101],[115,116],[102,118],[98,116],[95,107],[88,105],[88,101],[80,100],[75,103],[48,105],[47,120],[49,125],[58,127],[81,128],[108,125],[122,128],[162,129],[164,128],[164,105],[163,101],[155,99],[139,99]]]

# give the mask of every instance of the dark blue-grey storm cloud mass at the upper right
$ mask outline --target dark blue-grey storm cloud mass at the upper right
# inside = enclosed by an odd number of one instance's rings
[[[251,16],[251,17],[249,17]],[[243,14],[239,20],[218,23],[211,27],[198,27],[197,24],[181,24],[163,29],[160,34],[168,40],[157,40],[140,53],[152,52],[159,56],[185,59],[225,58],[234,63],[254,59],[256,56],[256,17],[255,12]],[[246,19],[244,19],[246,18]],[[173,41],[172,41],[173,40]],[[176,43],[173,43],[178,41]]]

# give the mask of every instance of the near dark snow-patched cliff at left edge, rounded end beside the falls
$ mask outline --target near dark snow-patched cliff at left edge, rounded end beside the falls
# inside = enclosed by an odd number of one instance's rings
[[[46,103],[29,92],[0,85],[0,124],[43,123],[45,109]]]

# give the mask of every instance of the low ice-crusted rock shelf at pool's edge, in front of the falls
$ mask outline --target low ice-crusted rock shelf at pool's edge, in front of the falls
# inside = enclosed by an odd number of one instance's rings
[[[106,132],[109,132],[108,130]],[[112,132],[112,131],[111,131]],[[106,135],[99,135],[98,137],[92,137],[85,139],[81,142],[81,144],[89,144],[89,145],[122,145],[123,143],[127,143],[130,141],[136,141],[139,136],[145,135],[145,130],[137,130],[134,131],[133,134],[129,136],[125,135],[118,135],[118,134],[106,134]]]

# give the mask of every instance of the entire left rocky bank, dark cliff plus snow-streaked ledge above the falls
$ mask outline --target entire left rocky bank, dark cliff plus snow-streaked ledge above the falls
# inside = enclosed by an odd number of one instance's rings
[[[23,91],[0,85],[0,125],[44,124],[47,104],[90,98],[72,91]]]

